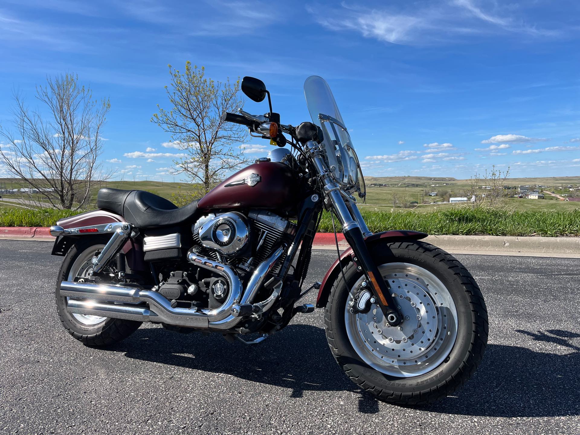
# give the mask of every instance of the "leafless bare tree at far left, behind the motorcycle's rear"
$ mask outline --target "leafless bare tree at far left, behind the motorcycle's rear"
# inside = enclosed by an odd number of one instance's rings
[[[0,162],[21,180],[32,199],[56,208],[79,209],[90,200],[94,185],[103,179],[97,158],[102,153],[101,129],[110,110],[109,100],[93,100],[78,76],[59,75],[37,86],[36,98],[44,111],[30,111],[14,94],[14,132],[0,126],[8,144],[0,148]]]

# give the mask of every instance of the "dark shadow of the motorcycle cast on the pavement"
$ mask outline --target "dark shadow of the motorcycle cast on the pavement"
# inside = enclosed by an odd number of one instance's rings
[[[580,415],[575,401],[580,347],[570,343],[580,334],[557,329],[517,332],[573,351],[559,355],[490,344],[480,367],[461,390],[419,409],[499,417]],[[324,329],[311,325],[289,325],[255,346],[230,344],[219,334],[182,335],[162,328],[140,328],[111,350],[137,360],[287,388],[289,396],[295,398],[303,397],[304,391],[359,393],[358,411],[374,414],[380,410],[378,401],[340,370],[328,349]]]

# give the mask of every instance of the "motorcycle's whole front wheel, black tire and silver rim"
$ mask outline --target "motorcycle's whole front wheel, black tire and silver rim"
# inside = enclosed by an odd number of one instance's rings
[[[473,375],[487,344],[479,287],[458,260],[425,242],[391,242],[372,253],[404,321],[390,327],[378,305],[351,313],[364,275],[350,263],[325,310],[333,356],[380,400],[411,405],[448,396]]]

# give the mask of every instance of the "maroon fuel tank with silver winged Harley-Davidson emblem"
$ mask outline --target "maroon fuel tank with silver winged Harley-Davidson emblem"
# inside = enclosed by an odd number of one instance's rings
[[[296,208],[298,180],[280,162],[259,162],[234,173],[197,203],[204,211],[213,209],[264,208],[289,213]]]

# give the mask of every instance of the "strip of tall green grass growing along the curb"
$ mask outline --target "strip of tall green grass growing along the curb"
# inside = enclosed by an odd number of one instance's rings
[[[78,212],[55,209],[0,209],[2,227],[48,227],[57,220]],[[374,233],[386,230],[415,230],[428,234],[491,235],[580,235],[580,210],[506,211],[457,207],[434,212],[361,211]],[[340,225],[335,219],[337,230]],[[325,212],[318,231],[332,231],[330,215]]]

